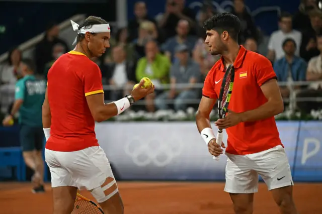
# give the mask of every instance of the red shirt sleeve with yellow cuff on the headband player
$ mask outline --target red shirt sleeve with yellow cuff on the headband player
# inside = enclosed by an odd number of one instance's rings
[[[104,93],[102,85],[102,73],[99,66],[93,68],[84,74],[84,91],[85,96],[97,93]]]

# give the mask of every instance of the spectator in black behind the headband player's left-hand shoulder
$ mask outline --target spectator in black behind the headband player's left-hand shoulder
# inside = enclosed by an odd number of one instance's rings
[[[36,45],[35,48],[35,62],[38,74],[44,76],[45,66],[47,63],[54,60],[53,47],[56,44],[61,44],[64,47],[63,52],[68,51],[66,42],[60,38],[59,27],[55,23],[50,23],[47,27],[44,38]]]

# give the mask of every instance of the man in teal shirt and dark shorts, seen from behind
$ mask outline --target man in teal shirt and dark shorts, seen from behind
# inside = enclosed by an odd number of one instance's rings
[[[42,149],[44,133],[42,129],[42,104],[45,99],[46,82],[34,76],[34,63],[30,59],[21,62],[23,78],[16,83],[15,103],[11,114],[3,121],[4,126],[13,125],[14,115],[19,111],[20,143],[24,160],[34,175],[33,192],[44,192],[44,162]]]

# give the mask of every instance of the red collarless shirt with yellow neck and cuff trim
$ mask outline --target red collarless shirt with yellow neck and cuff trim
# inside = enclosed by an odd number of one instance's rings
[[[50,68],[47,90],[51,130],[46,148],[71,152],[98,146],[86,100],[88,95],[104,93],[98,65],[86,55],[70,51]]]

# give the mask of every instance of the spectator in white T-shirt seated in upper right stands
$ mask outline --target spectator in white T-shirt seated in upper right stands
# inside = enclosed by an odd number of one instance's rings
[[[291,38],[295,41],[296,46],[300,47],[302,34],[299,31],[292,28],[292,15],[289,13],[282,13],[278,23],[280,30],[272,33],[270,41],[268,43],[268,55],[267,58],[274,62],[284,56],[282,48],[283,41],[287,38]],[[299,49],[295,52],[296,56],[299,56]]]

